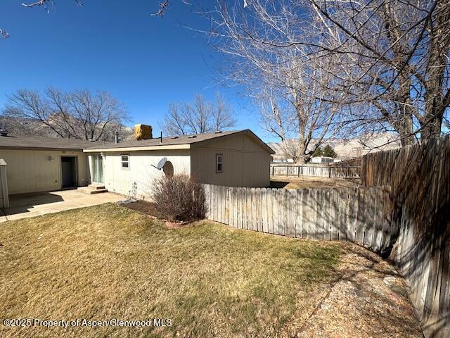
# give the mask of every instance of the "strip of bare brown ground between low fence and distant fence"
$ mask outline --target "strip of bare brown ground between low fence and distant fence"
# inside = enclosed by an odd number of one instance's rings
[[[270,185],[272,188],[283,189],[354,188],[359,186],[359,180],[307,176],[271,176]]]

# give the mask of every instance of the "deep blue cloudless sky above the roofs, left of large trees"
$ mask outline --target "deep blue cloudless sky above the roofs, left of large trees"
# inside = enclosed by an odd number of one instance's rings
[[[181,27],[208,24],[180,0],[172,0],[162,18],[149,15],[158,0],[84,0],[83,6],[60,0],[50,13],[25,8],[23,0],[1,2],[0,28],[10,37],[0,40],[0,108],[16,89],[101,89],[127,105],[130,125],[159,130],[169,102],[221,92],[233,106],[237,129],[271,140],[238,88],[217,84],[220,56],[205,35]]]

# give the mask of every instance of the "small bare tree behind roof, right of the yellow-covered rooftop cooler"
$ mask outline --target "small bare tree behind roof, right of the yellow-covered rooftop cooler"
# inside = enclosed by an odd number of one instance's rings
[[[227,130],[236,125],[231,108],[219,94],[214,102],[197,94],[193,103],[169,104],[162,130],[168,135],[203,134]]]

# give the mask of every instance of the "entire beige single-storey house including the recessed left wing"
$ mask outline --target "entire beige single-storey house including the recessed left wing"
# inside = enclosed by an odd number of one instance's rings
[[[117,143],[37,136],[0,136],[9,194],[84,187],[148,197],[158,175],[186,173],[198,182],[267,187],[274,151],[250,130]],[[163,163],[165,161],[165,163]],[[163,163],[158,168],[158,163]],[[95,191],[97,192],[97,191]]]

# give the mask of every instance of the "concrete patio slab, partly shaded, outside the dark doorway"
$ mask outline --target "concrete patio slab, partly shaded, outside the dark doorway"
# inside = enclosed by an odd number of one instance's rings
[[[10,208],[6,208],[4,211],[0,210],[0,223],[6,220],[18,220],[84,206],[117,202],[123,199],[125,199],[124,196],[110,192],[88,195],[78,190],[13,195],[9,199]]]

